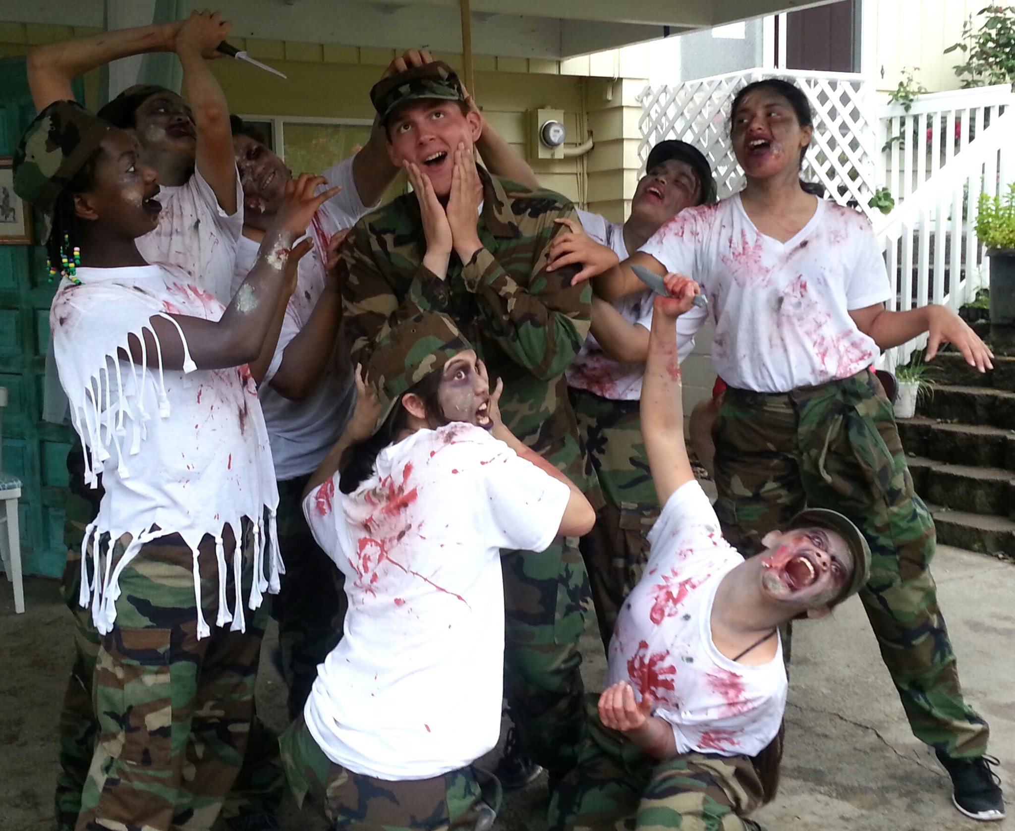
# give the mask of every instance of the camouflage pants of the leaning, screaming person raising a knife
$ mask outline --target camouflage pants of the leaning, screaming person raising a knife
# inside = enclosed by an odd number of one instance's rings
[[[588,735],[578,768],[550,801],[550,831],[743,831],[761,805],[761,782],[746,756],[688,753],[660,762],[603,726],[598,695],[586,698]]]

